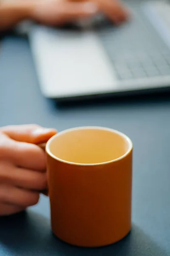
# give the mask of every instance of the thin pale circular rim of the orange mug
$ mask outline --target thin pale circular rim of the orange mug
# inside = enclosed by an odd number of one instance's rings
[[[62,160],[61,158],[56,157],[54,154],[51,153],[49,146],[50,146],[51,141],[54,140],[55,137],[58,137],[62,134],[70,132],[70,131],[85,130],[85,129],[90,129],[90,130],[98,129],[98,130],[103,130],[103,131],[111,131],[112,133],[119,134],[121,137],[123,137],[127,141],[128,146],[129,146],[128,150],[121,157],[118,157],[118,158],[113,159],[111,161],[101,162],[101,163],[74,163],[74,162],[69,162],[69,161],[66,161],[66,160]],[[59,162],[62,162],[62,163],[67,163],[67,164],[70,164],[70,165],[77,165],[77,166],[99,166],[99,165],[104,165],[104,164],[108,164],[108,163],[117,162],[117,161],[122,160],[123,158],[125,158],[130,153],[130,151],[132,151],[132,148],[133,148],[133,143],[127,135],[123,134],[120,131],[114,130],[112,128],[106,128],[106,127],[102,127],[102,126],[80,126],[80,127],[69,128],[69,129],[60,131],[59,133],[52,136],[45,145],[46,153],[49,156],[51,156],[53,159],[58,160]]]

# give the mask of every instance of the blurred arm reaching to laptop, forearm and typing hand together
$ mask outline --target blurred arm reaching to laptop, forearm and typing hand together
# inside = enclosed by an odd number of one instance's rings
[[[0,3],[0,30],[30,19],[51,26],[61,26],[103,12],[113,23],[129,17],[119,0],[14,0]]]

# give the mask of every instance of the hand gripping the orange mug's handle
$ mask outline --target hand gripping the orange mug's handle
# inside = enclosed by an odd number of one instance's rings
[[[45,152],[38,143],[56,134],[38,125],[0,128],[0,215],[20,212],[37,204],[46,189]]]

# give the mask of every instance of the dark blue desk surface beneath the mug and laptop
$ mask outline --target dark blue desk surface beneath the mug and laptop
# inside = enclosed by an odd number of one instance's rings
[[[0,256],[170,256],[170,96],[57,107],[40,93],[28,42],[6,37],[0,51],[0,126],[37,123],[58,131],[100,125],[134,145],[133,225],[122,241],[83,249],[51,235],[49,202],[0,218]]]

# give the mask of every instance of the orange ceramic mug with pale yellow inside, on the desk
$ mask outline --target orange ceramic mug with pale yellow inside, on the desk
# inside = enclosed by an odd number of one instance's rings
[[[85,247],[126,236],[131,228],[131,140],[109,128],[73,128],[48,140],[46,153],[52,232]]]

